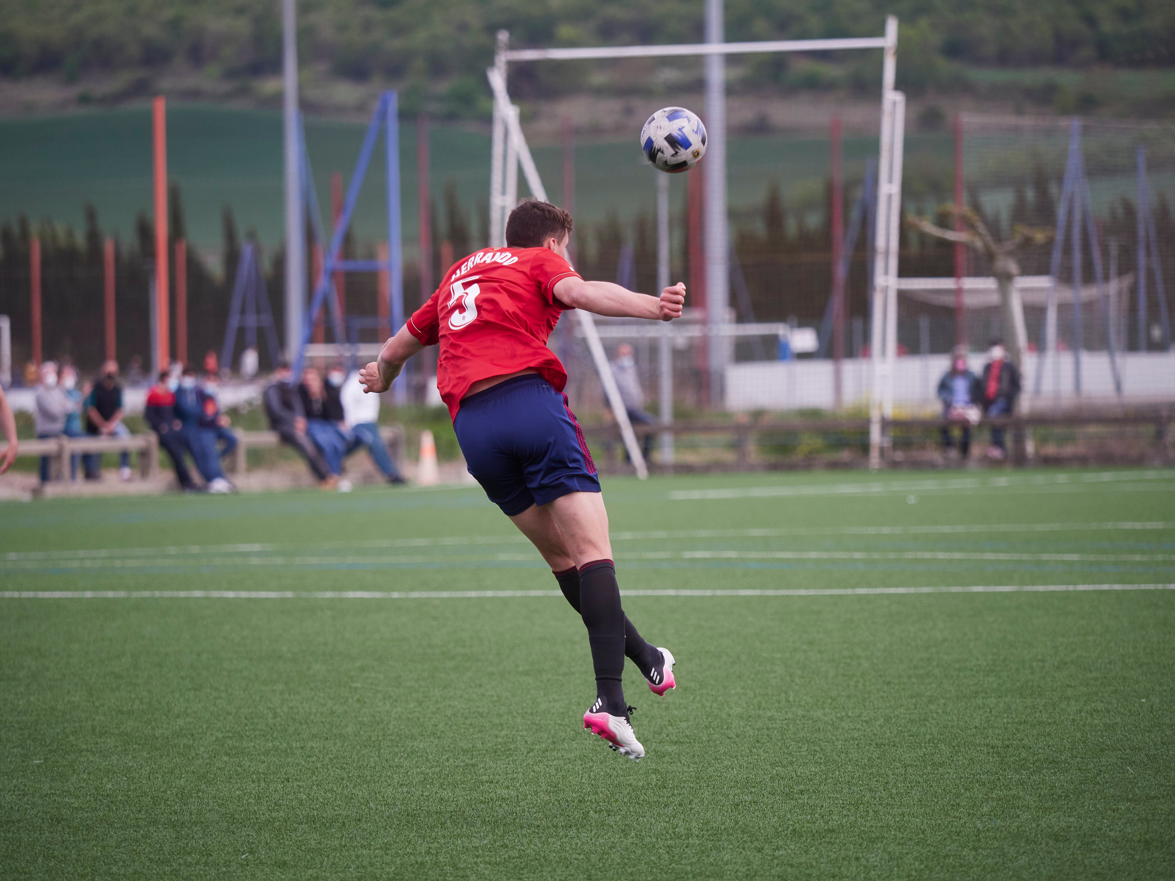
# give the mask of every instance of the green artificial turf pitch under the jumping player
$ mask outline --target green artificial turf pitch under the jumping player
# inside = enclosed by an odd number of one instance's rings
[[[0,876],[1175,874],[1175,591],[941,590],[1175,581],[1175,471],[605,492],[639,764],[477,487],[0,505]]]

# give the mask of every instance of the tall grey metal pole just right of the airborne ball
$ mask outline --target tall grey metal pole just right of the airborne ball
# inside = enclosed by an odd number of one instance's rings
[[[723,42],[723,0],[706,0],[706,42]],[[723,406],[730,269],[726,231],[726,59],[706,56],[706,322],[710,325],[710,406]]]

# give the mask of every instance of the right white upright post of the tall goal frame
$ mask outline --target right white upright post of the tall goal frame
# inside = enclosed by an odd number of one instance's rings
[[[873,391],[870,396],[870,468],[881,468],[881,394],[885,386],[882,370],[882,344],[886,338],[886,269],[889,246],[889,200],[893,195],[894,105],[891,99],[898,65],[898,19],[889,15],[885,21],[886,48],[881,67],[881,141],[878,159],[878,202],[873,253],[873,315],[870,327],[870,361],[873,366]]]

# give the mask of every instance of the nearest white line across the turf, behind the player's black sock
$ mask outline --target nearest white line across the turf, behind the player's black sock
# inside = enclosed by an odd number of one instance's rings
[[[1039,584],[948,587],[811,587],[797,590],[620,591],[625,597],[846,597],[893,593],[1040,593],[1171,591],[1175,584]],[[0,599],[501,599],[562,597],[559,591],[0,591]]]

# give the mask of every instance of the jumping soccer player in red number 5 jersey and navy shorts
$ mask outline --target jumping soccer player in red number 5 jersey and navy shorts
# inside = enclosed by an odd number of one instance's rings
[[[620,607],[607,511],[583,431],[568,406],[568,372],[546,339],[564,309],[672,321],[685,285],[659,297],[586,282],[568,263],[571,215],[525,201],[506,221],[506,247],[454,265],[441,287],[360,371],[367,392],[387,391],[412,355],[439,345],[437,385],[469,471],[551,566],[588,628],[596,702],[584,728],[633,760],[620,674],[627,655],[654,694],[676,687],[674,658],[646,643]]]

